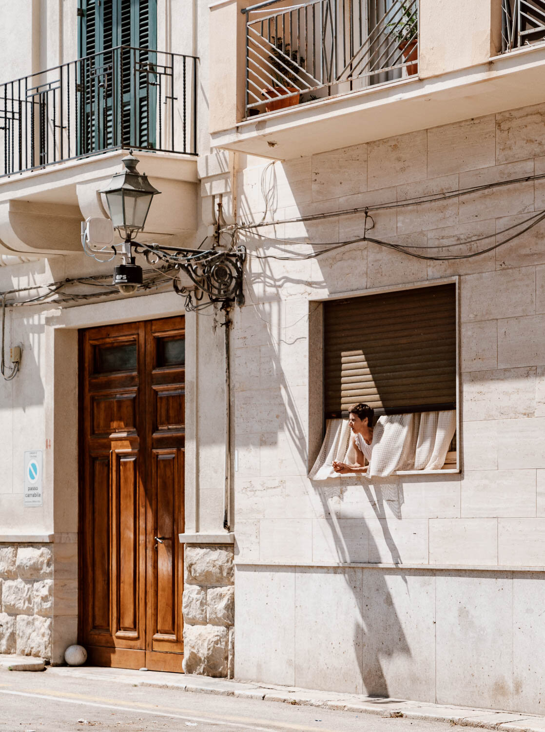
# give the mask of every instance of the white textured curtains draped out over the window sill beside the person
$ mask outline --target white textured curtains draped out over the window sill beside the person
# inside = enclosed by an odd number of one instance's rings
[[[456,411],[390,414],[379,417],[373,430],[367,477],[386,477],[398,470],[440,470],[456,431]],[[309,477],[338,478],[334,460],[355,463],[347,419],[328,419],[326,438]]]

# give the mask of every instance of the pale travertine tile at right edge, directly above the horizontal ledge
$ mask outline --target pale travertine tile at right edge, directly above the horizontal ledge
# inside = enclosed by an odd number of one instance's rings
[[[500,518],[497,544],[500,564],[543,567],[545,518]]]

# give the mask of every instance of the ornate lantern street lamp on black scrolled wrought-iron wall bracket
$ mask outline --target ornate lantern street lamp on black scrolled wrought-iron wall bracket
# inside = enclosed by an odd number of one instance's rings
[[[123,264],[113,269],[113,285],[116,285],[121,292],[129,294],[143,284],[142,267],[135,264],[134,250],[137,254],[143,254],[149,264],[163,261],[178,269],[180,275],[186,275],[185,281],[181,278],[179,282],[178,278],[173,280],[175,291],[186,296],[186,309],[198,307],[204,295],[208,296],[210,302],[222,302],[228,306],[234,301],[238,305],[243,305],[242,268],[246,259],[244,247],[231,250],[219,248],[219,234],[216,244],[208,250],[140,244],[135,241],[135,234],[143,231],[146,224],[151,201],[160,191],[151,185],[145,173],[137,171],[139,160],[133,157],[132,150],[121,162],[123,170],[116,173],[108,187],[100,191],[106,197],[113,228],[124,238],[119,249]],[[93,239],[93,236],[89,235],[89,222],[93,221],[97,222],[97,219],[88,220],[87,234],[82,236],[84,248],[85,242],[89,243]]]

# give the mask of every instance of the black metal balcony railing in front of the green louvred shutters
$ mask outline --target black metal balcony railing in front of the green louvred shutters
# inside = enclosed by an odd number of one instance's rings
[[[132,147],[197,154],[194,56],[118,46],[0,85],[0,176]]]

